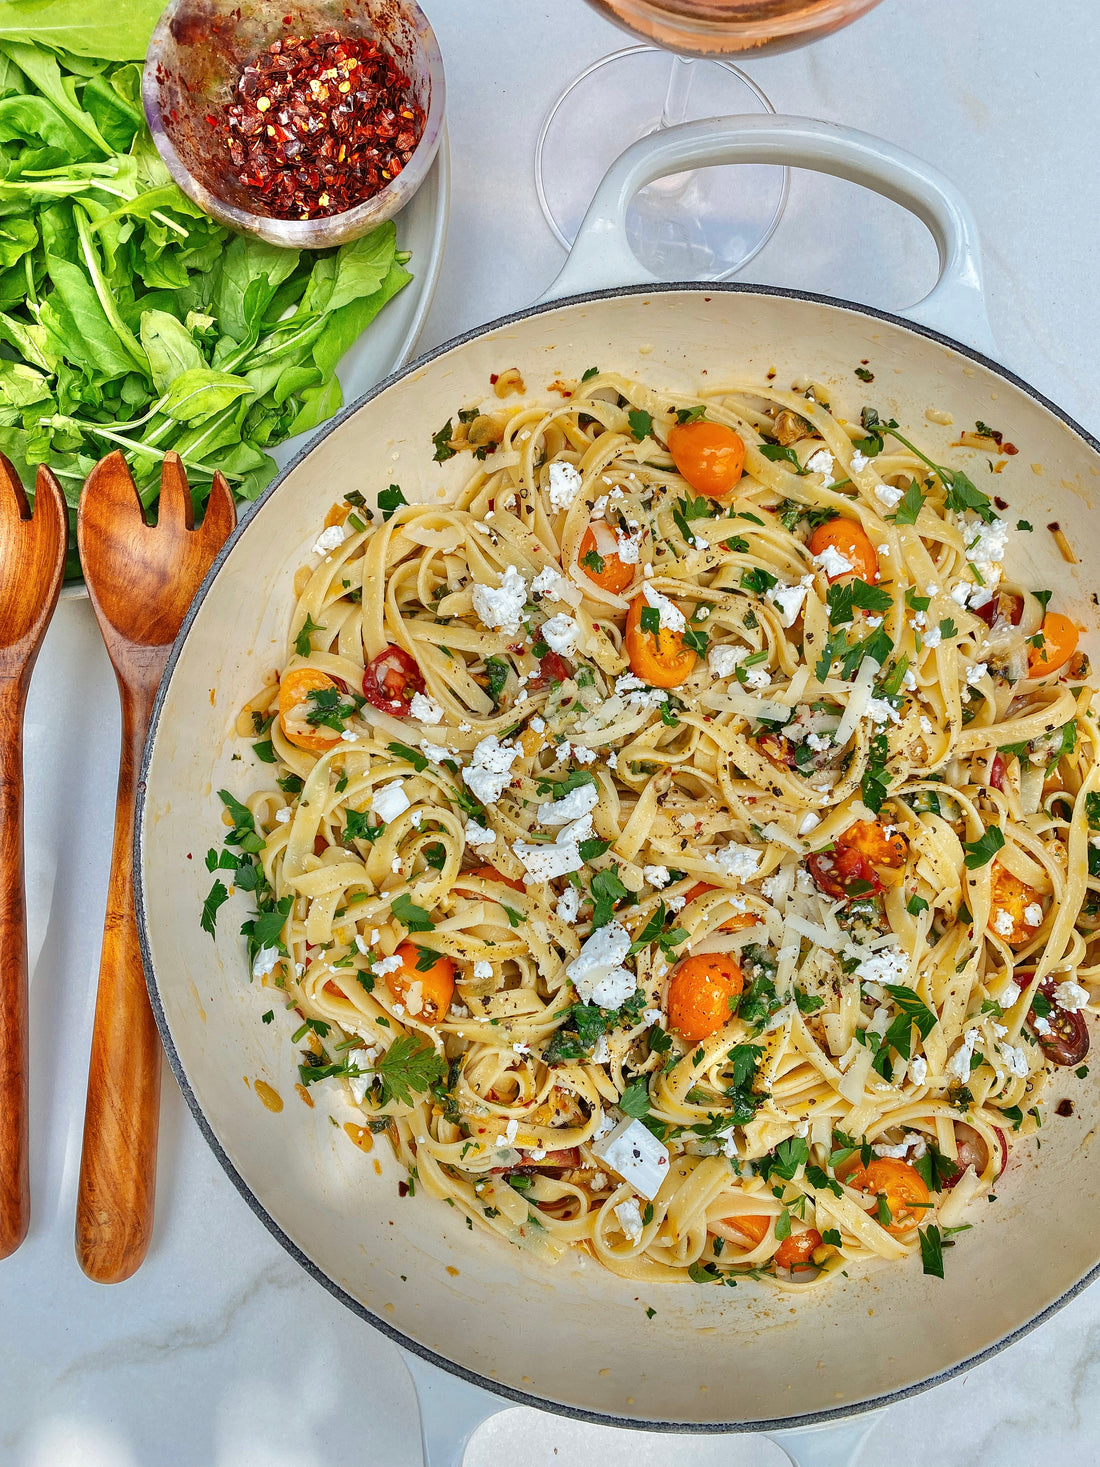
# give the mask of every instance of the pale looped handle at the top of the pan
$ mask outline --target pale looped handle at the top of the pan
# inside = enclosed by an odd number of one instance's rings
[[[725,163],[832,173],[908,208],[936,241],[940,276],[928,295],[901,314],[999,359],[981,293],[977,226],[950,179],[883,138],[814,117],[705,117],[639,138],[603,176],[562,273],[538,304],[654,282],[626,239],[631,200],[666,173]]]

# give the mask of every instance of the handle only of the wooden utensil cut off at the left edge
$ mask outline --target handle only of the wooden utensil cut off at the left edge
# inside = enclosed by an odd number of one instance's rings
[[[23,676],[0,681],[0,1259],[31,1223],[26,1119]]]

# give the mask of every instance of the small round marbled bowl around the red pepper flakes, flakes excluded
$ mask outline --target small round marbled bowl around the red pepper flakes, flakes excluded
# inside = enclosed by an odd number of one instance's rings
[[[207,113],[220,113],[241,70],[273,41],[320,31],[384,45],[424,109],[424,133],[406,167],[362,204],[327,219],[274,219],[257,213],[232,176]],[[409,202],[443,138],[446,87],[436,32],[415,0],[172,0],[150,41],[141,95],[169,173],[204,213],[271,245],[326,249],[358,239]]]

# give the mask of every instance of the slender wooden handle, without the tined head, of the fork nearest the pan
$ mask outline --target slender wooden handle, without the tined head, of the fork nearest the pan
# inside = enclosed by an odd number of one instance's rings
[[[135,684],[119,679],[119,797],[76,1197],[76,1257],[97,1284],[117,1284],[141,1265],[153,1234],[157,1188],[161,1049],[133,912],[133,810],[167,648],[147,653],[147,676]]]

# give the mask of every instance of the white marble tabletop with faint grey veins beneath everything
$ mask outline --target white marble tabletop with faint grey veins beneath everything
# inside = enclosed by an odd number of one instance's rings
[[[540,214],[538,125],[582,66],[626,44],[581,0],[424,0],[447,66],[453,211],[421,345],[531,301],[562,254]],[[1003,361],[1100,431],[1093,0],[884,0],[848,32],[748,70],[779,111],[852,123],[947,172],[983,233]],[[747,279],[880,307],[931,283],[899,208],[798,175]],[[106,901],[119,714],[87,603],[63,604],[28,711],[31,1235],[0,1263],[0,1463],[321,1467],[421,1461],[397,1350],[314,1284],[207,1149],[166,1071],[157,1225],[144,1267],[100,1288],[72,1247]],[[1038,1240],[1037,1240],[1038,1245]],[[1100,1289],[931,1394],[893,1407],[861,1461],[1015,1467],[1100,1448]],[[664,1438],[510,1408],[466,1467],[769,1464],[760,1438]]]

